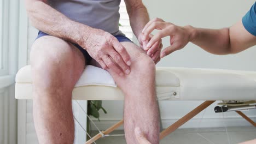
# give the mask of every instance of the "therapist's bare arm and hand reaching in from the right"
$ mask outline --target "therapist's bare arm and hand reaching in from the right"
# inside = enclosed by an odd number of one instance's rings
[[[154,19],[143,29],[144,35],[147,37],[154,29],[160,29],[160,31],[149,41],[148,46],[160,38],[171,37],[171,46],[162,51],[161,57],[182,49],[189,42],[216,55],[241,52],[256,44],[256,37],[243,27],[241,20],[229,28],[206,29],[192,26],[181,27],[161,19]]]

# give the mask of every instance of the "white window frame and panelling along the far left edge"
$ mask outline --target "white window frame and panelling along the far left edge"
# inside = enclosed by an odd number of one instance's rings
[[[19,1],[0,2],[0,143],[16,143],[16,100]]]

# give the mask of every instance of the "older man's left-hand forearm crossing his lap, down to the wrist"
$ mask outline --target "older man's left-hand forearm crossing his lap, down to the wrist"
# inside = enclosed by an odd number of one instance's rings
[[[68,19],[42,1],[27,0],[26,9],[34,27],[55,37],[79,44],[90,32],[91,27]]]

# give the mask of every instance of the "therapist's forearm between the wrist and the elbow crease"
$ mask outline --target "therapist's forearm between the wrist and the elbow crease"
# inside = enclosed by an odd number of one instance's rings
[[[187,26],[190,32],[191,43],[200,46],[203,50],[216,54],[230,53],[229,28],[206,29]]]

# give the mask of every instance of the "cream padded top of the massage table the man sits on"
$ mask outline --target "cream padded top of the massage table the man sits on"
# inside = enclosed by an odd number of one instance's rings
[[[30,65],[19,70],[15,88],[17,99],[32,99]],[[158,100],[255,100],[256,71],[158,67],[156,91]],[[124,99],[118,87],[96,85],[75,86],[72,97],[78,100]]]

